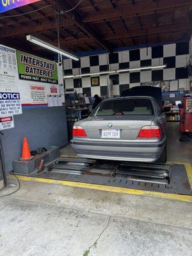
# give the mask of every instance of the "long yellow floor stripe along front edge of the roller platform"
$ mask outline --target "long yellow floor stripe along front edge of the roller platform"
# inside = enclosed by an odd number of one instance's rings
[[[175,195],[175,194],[168,194],[168,193],[161,193],[161,192],[154,192],[154,191],[144,191],[139,189],[119,188],[119,187],[103,186],[103,185],[90,184],[90,183],[84,183],[84,182],[73,182],[73,181],[67,181],[67,180],[43,179],[43,178],[28,177],[23,175],[17,175],[17,177],[20,180],[37,181],[37,182],[44,182],[49,184],[63,184],[66,186],[72,186],[77,188],[96,189],[96,190],[109,191],[109,192],[115,192],[115,193],[125,193],[129,195],[155,196],[155,197],[164,198],[164,199],[179,200],[182,202],[192,202],[192,196],[187,196],[187,195]]]

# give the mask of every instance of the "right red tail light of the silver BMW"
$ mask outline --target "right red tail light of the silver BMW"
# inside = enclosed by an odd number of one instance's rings
[[[161,136],[161,129],[156,125],[144,126],[138,134],[138,138],[161,138]]]

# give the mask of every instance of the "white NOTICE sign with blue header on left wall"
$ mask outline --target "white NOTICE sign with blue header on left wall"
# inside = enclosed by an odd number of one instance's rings
[[[16,92],[0,92],[0,116],[20,114],[22,114],[20,94]]]

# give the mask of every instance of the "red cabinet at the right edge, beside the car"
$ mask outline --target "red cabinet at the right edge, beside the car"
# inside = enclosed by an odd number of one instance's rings
[[[180,132],[192,132],[192,97],[184,97],[180,108]]]

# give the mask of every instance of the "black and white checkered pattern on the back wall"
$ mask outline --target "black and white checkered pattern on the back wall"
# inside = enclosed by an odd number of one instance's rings
[[[65,88],[75,88],[77,93],[87,96],[107,95],[108,79],[113,80],[113,94],[141,83],[178,80],[179,88],[188,90],[189,43],[179,42],[154,47],[133,49],[82,57],[80,61],[64,60],[64,75],[97,73],[107,70],[139,68],[166,64],[166,68],[140,70],[120,74],[100,75],[100,86],[91,86],[91,77],[65,79]],[[98,75],[97,75],[98,76]]]

